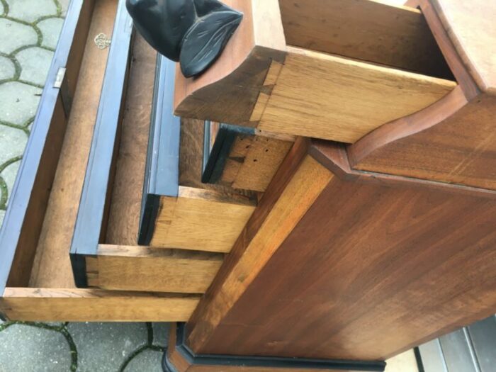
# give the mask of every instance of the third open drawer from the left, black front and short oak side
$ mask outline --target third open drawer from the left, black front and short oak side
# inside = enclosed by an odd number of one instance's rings
[[[173,115],[175,67],[158,59],[139,243],[230,252],[257,193],[201,182],[205,125]]]

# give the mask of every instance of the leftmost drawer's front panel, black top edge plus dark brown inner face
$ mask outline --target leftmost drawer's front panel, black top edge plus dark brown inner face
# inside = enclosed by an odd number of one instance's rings
[[[61,67],[67,67],[66,80],[67,77],[77,77],[79,74],[84,44],[74,43],[73,40],[77,30],[81,39],[85,40],[92,9],[93,1],[72,1],[69,16],[64,21],[33,123],[32,135],[0,228],[0,293],[4,291],[8,280],[10,283],[20,284],[26,283],[29,278],[29,271],[26,272],[25,269],[11,273],[11,266],[14,261],[27,267],[33,262],[62,147],[70,106],[64,109],[64,93],[54,87],[55,78]]]

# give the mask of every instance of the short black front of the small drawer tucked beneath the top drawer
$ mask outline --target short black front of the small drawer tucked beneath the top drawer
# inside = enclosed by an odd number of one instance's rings
[[[210,150],[210,148],[208,148],[210,147],[210,125],[205,125],[205,139],[203,141],[203,164],[205,164],[205,166],[201,176],[201,181],[203,183],[216,184],[220,181],[232,145],[234,145],[235,140],[239,135],[255,135],[255,129],[240,127],[238,125],[220,124],[212,150]],[[205,144],[208,146],[207,149],[205,149]]]

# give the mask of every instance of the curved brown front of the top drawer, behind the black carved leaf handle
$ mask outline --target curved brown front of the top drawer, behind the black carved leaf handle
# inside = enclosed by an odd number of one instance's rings
[[[205,74],[186,79],[177,70],[174,107],[184,118],[248,123],[271,61],[284,61],[281,14],[278,0],[224,3],[242,11],[242,23]]]

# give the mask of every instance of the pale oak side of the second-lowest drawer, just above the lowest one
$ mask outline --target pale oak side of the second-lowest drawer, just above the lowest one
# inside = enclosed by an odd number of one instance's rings
[[[152,247],[100,245],[86,259],[89,286],[124,291],[205,293],[223,255]],[[95,267],[96,266],[96,267]]]

